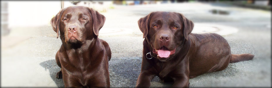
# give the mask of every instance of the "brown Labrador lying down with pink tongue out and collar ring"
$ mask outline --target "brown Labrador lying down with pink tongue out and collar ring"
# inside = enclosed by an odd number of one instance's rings
[[[172,87],[189,87],[190,78],[254,57],[231,54],[227,41],[218,34],[192,34],[193,22],[180,13],[152,12],[138,24],[145,39],[136,87],[149,87],[154,76],[174,82]]]

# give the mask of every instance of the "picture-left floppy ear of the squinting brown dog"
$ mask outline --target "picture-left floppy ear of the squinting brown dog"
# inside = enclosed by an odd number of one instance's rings
[[[58,12],[58,14],[55,17],[53,17],[51,19],[51,21],[50,21],[53,30],[57,33],[57,38],[59,37],[59,22],[60,22],[60,19],[61,19],[62,10],[63,9],[61,9]]]

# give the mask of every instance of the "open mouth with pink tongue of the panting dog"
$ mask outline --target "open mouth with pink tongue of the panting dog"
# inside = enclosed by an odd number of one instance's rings
[[[161,57],[161,58],[168,58],[170,55],[174,54],[175,53],[175,50],[168,50],[165,46],[161,47],[161,49],[159,50],[156,50],[154,47],[153,47],[153,53],[154,54],[157,54],[157,56]]]

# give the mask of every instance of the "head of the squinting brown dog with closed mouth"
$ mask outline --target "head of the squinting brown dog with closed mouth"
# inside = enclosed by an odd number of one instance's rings
[[[51,19],[57,38],[65,43],[84,43],[97,37],[106,18],[97,11],[84,6],[63,8]]]

